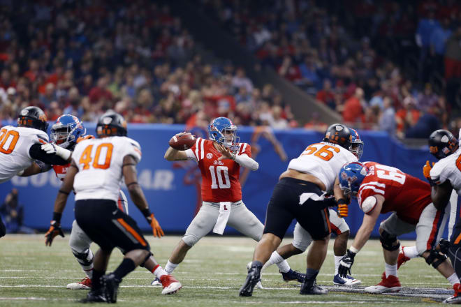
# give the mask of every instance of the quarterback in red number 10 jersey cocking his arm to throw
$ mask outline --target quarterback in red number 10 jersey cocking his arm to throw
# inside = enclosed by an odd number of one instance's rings
[[[202,172],[203,199],[200,211],[170,255],[165,267],[168,274],[184,260],[187,251],[211,231],[223,234],[224,227],[229,225],[256,241],[263,235],[263,224],[242,202],[240,166],[258,170],[249,144],[239,142],[237,126],[226,117],[214,119],[208,130],[210,140],[198,137],[196,144],[186,151],[169,147],[165,153],[169,161],[195,160],[198,163]]]

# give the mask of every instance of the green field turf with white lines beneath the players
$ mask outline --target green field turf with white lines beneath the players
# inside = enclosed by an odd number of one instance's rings
[[[68,235],[55,239],[51,248],[45,247],[41,235],[7,235],[0,239],[0,306],[71,306],[85,297],[85,290],[67,290],[66,284],[85,275],[68,248]],[[164,266],[180,237],[147,237],[154,257]],[[285,239],[284,244],[290,239]],[[403,242],[411,245],[411,242]],[[268,289],[254,291],[253,297],[242,298],[238,290],[246,274],[256,243],[240,237],[207,237],[194,246],[186,260],[174,272],[183,288],[177,294],[161,295],[161,287],[152,287],[154,278],[146,269],[138,268],[124,278],[117,306],[434,306],[449,297],[449,283],[422,258],[411,260],[399,270],[404,292],[414,297],[372,295],[341,291],[332,287],[334,261],[332,241],[327,259],[318,277],[320,285],[330,286],[323,296],[299,294],[297,283],[285,283],[277,271],[270,267],[263,273],[263,286]],[[96,246],[92,246],[96,252]],[[117,267],[121,253],[114,250],[109,270]],[[293,269],[305,271],[305,255],[291,257]],[[381,280],[383,256],[379,241],[369,241],[356,257],[352,273],[374,285]],[[441,295],[430,294],[430,289],[441,288]],[[422,296],[426,296],[423,298]]]

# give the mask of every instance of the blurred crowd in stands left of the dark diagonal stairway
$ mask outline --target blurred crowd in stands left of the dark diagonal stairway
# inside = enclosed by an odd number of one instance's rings
[[[228,116],[241,125],[297,125],[272,86],[254,87],[231,63],[205,63],[168,6],[54,4],[2,7],[1,120],[37,105],[49,120],[66,113],[96,121],[114,109],[133,123],[195,125]]]

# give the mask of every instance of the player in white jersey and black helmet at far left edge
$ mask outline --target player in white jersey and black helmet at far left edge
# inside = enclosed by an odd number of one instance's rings
[[[4,126],[0,130],[0,184],[16,175],[26,175],[34,160],[44,167],[44,163],[67,164],[70,156],[48,154],[43,146],[49,145],[46,130],[46,115],[39,107],[25,107],[17,118],[17,127]],[[45,171],[45,170],[41,170]],[[25,174],[24,174],[25,173]],[[6,234],[0,218],[0,237]]]

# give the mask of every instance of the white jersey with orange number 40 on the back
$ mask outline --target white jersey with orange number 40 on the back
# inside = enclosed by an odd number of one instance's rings
[[[140,145],[129,137],[103,137],[79,142],[72,153],[78,167],[73,181],[75,200],[119,198],[125,156],[141,160]]]

